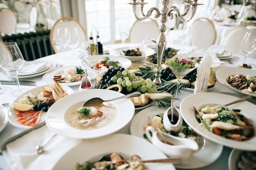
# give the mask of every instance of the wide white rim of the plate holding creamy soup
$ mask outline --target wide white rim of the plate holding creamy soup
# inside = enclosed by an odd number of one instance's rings
[[[100,97],[103,100],[124,96],[119,92],[106,89],[89,89],[61,98],[52,105],[47,111],[45,122],[49,129],[56,134],[72,138],[90,139],[109,135],[123,128],[132,120],[135,109],[133,102],[126,98],[122,100],[114,100],[110,103],[117,109],[115,120],[106,126],[93,130],[75,129],[67,124],[65,115],[74,105],[83,105],[83,102],[90,98]],[[61,111],[60,111],[61,108]],[[76,108],[75,108],[76,109]]]

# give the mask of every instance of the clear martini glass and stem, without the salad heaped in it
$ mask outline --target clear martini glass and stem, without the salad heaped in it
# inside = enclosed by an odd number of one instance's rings
[[[196,62],[193,62],[193,67],[192,68],[182,68],[182,67],[179,67],[179,66],[173,66],[173,65],[170,65],[171,61],[175,60],[174,58],[170,58],[170,59],[167,59],[165,61],[166,65],[172,70],[173,74],[175,74],[176,78],[177,78],[177,90],[176,90],[176,95],[174,97],[174,105],[175,107],[180,107],[180,103],[182,102],[183,98],[179,97],[178,96],[178,93],[179,93],[179,90],[180,90],[180,81],[182,78],[184,78],[184,76],[186,76],[187,74],[189,74],[191,71],[193,71],[195,68],[198,67],[198,63]]]

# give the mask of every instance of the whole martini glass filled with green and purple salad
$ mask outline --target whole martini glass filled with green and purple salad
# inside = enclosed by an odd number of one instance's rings
[[[183,98],[178,96],[180,89],[180,81],[182,78],[184,78],[184,76],[186,76],[195,68],[197,68],[198,63],[188,58],[175,56],[173,58],[167,59],[165,61],[165,64],[172,70],[173,74],[175,74],[177,78],[177,90],[176,95],[174,97],[174,105],[175,107],[180,107],[180,103],[183,100]]]

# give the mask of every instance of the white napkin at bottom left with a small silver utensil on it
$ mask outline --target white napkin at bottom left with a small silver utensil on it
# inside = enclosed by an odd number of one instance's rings
[[[42,145],[52,135],[54,132],[45,125],[7,144],[3,155],[11,169],[51,170],[63,154],[82,141],[56,135],[45,146],[45,152],[38,155],[36,145]]]

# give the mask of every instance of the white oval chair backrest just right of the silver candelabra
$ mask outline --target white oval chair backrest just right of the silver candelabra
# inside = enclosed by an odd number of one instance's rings
[[[216,41],[215,26],[208,18],[198,18],[191,25],[191,45],[208,48]]]

